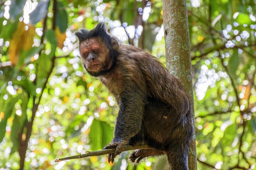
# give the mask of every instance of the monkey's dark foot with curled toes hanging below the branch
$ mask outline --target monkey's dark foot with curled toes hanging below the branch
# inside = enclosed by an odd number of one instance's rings
[[[131,153],[130,156],[130,160],[132,162],[135,162],[135,160],[137,159],[137,163],[140,162],[141,159],[148,157],[148,156],[155,156],[155,155],[159,155],[162,152],[160,150],[134,150]]]

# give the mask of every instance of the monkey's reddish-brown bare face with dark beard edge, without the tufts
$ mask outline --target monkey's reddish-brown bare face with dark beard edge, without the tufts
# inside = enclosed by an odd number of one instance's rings
[[[91,75],[99,75],[112,66],[108,46],[100,37],[93,37],[80,43],[84,68]]]

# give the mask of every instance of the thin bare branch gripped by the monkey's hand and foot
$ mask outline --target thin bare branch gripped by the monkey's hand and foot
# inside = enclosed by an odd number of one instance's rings
[[[148,144],[141,144],[141,145],[127,145],[127,146],[123,146],[121,147],[120,151],[124,152],[127,150],[137,150],[137,149],[154,149],[151,148],[150,146],[148,146]],[[105,150],[97,150],[97,151],[93,151],[93,152],[88,152],[86,151],[86,153],[84,154],[80,154],[80,155],[76,155],[76,156],[69,156],[69,157],[65,157],[65,158],[56,158],[54,160],[55,163],[58,163],[60,161],[66,161],[66,160],[70,160],[70,159],[79,159],[79,158],[85,158],[85,157],[90,157],[90,156],[101,156],[101,155],[106,155],[109,153],[115,153],[116,148],[113,149],[105,149]]]

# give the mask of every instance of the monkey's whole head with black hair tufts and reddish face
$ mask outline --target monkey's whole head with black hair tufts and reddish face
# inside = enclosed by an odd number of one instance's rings
[[[110,72],[119,55],[119,44],[108,34],[104,23],[98,23],[92,30],[79,29],[79,51],[84,68],[92,76]]]

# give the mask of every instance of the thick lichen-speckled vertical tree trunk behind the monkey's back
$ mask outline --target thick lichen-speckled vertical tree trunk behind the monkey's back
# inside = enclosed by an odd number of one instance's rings
[[[181,81],[191,99],[193,136],[189,148],[189,170],[196,170],[195,115],[186,0],[163,0],[163,26],[166,67]]]

